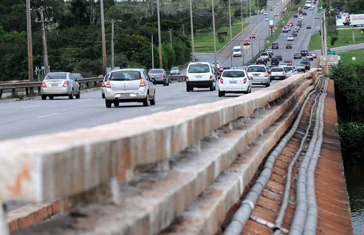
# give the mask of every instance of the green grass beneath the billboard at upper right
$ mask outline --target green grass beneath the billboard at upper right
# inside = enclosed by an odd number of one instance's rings
[[[337,33],[338,39],[335,41],[334,45],[331,45],[331,36],[327,36],[327,45],[329,48],[364,43],[364,34],[361,33],[360,29],[354,30],[355,41],[352,40],[351,30],[338,30]],[[311,36],[310,50],[321,50],[320,34],[317,33]]]

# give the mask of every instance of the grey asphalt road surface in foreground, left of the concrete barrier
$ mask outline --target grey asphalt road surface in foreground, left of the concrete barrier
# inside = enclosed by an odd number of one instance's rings
[[[252,91],[263,88],[265,87],[254,85]],[[217,89],[197,89],[187,93],[185,83],[173,83],[170,86],[157,85],[156,104],[148,107],[141,103],[120,103],[119,107],[107,109],[105,101],[101,99],[101,91],[83,93],[80,100],[59,98],[52,101],[3,103],[0,104],[0,140],[93,127],[237,96],[227,94],[226,97],[218,97]]]

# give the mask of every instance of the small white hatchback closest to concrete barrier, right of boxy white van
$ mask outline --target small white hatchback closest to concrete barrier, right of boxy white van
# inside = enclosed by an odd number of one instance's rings
[[[251,80],[247,71],[244,69],[227,69],[221,74],[219,80],[219,97],[225,96],[226,93],[244,93],[251,92]]]

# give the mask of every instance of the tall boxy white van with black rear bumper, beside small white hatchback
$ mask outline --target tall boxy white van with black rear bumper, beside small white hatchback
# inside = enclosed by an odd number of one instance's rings
[[[214,69],[207,62],[189,63],[186,72],[186,91],[193,91],[193,88],[216,89],[216,78]]]

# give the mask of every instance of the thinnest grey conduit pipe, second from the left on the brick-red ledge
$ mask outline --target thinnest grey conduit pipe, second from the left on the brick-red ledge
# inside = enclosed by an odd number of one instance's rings
[[[277,219],[275,221],[275,232],[274,235],[280,235],[281,234],[281,226],[283,223],[283,219],[284,219],[284,215],[288,206],[288,201],[289,201],[289,191],[291,188],[291,180],[292,180],[292,169],[296,164],[296,161],[299,157],[299,155],[301,154],[302,150],[303,150],[303,145],[305,144],[306,138],[310,132],[311,129],[311,124],[312,124],[312,117],[314,115],[314,108],[316,106],[316,101],[317,98],[320,96],[320,94],[318,94],[315,98],[314,98],[314,105],[311,108],[311,112],[310,112],[310,118],[309,118],[309,123],[305,132],[305,135],[302,137],[301,143],[299,145],[299,149],[295,154],[295,157],[292,159],[292,161],[290,162],[289,166],[288,166],[288,170],[287,170],[287,177],[286,177],[286,185],[284,187],[284,194],[283,194],[283,200],[281,203],[281,209],[277,215]]]

